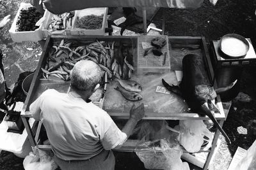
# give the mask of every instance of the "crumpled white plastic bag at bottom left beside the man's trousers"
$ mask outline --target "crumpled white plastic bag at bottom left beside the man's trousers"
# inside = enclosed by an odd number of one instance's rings
[[[50,152],[34,148],[23,160],[25,170],[54,170],[58,166],[52,158]]]

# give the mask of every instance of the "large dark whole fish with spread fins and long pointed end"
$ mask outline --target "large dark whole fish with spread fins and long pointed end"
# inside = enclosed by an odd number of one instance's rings
[[[168,85],[168,83],[162,79],[164,87],[175,94],[181,94],[192,111],[205,114],[211,118],[212,122],[218,127],[223,136],[231,143],[227,134],[223,131],[214,115],[212,115],[210,108],[218,110],[215,105],[217,93],[231,89],[236,81],[228,85],[228,87],[214,90],[205,71],[204,60],[202,57],[195,54],[188,54],[183,58],[182,69],[183,77],[179,87]]]

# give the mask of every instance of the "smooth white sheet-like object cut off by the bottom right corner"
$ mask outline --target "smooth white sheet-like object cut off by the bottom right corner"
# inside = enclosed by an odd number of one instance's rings
[[[256,170],[256,140],[234,170]]]

